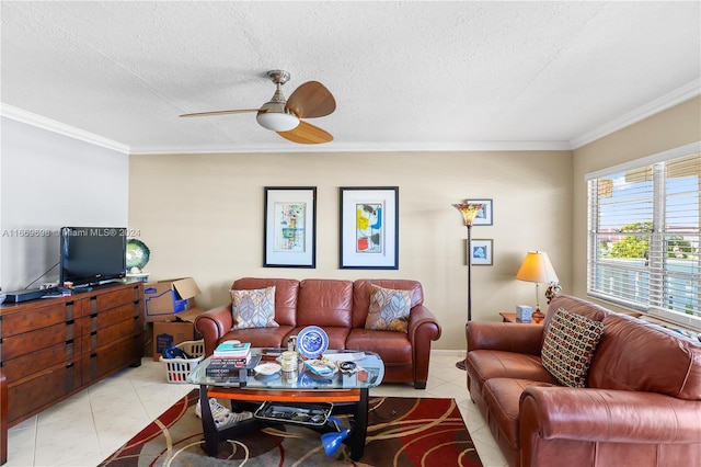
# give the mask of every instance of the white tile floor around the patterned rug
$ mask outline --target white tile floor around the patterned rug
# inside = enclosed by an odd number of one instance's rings
[[[506,467],[484,419],[470,401],[457,351],[432,353],[428,385],[381,385],[375,396],[444,397],[458,402],[485,467]],[[95,466],[195,386],[165,380],[165,367],[143,358],[10,429],[7,467]]]

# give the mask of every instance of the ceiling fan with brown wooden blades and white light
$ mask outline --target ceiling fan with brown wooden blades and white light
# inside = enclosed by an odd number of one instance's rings
[[[302,118],[326,116],[336,110],[336,101],[319,81],[307,81],[292,92],[288,100],[283,94],[283,84],[289,80],[289,72],[271,70],[268,78],[277,86],[269,102],[260,109],[237,109],[230,111],[199,112],[183,114],[181,117],[227,115],[257,112],[255,119],[264,128],[277,132],[285,139],[303,145],[317,145],[333,140],[333,136]]]

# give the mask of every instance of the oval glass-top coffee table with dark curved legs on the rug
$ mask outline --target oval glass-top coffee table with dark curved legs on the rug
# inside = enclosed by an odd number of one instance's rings
[[[258,364],[279,362],[283,349],[252,349],[252,364],[232,377],[207,375],[210,357],[205,358],[187,376],[187,381],[199,385],[205,451],[209,456],[218,453],[219,440],[235,436],[275,423],[292,423],[285,420],[269,420],[254,417],[235,423],[225,430],[217,430],[209,409],[209,398],[231,400],[231,410],[253,412],[263,402],[321,406],[332,403],[332,414],[349,414],[350,432],[344,443],[350,448],[350,458],[359,460],[365,449],[368,422],[369,389],[379,386],[384,377],[384,364],[379,355],[360,351],[326,351],[326,361],[337,362],[331,375],[319,376],[300,361],[296,374],[276,372],[256,373],[251,367]],[[350,364],[343,362],[352,362]],[[271,365],[266,365],[271,366]],[[343,369],[342,369],[343,368]],[[267,368],[266,368],[267,369]],[[336,431],[329,422],[323,425],[308,425],[320,433]]]

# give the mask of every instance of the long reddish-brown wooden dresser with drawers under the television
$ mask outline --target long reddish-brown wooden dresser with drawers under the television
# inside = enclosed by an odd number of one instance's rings
[[[2,304],[0,337],[7,420],[13,426],[118,369],[141,364],[143,283]],[[7,433],[0,436],[7,440]]]

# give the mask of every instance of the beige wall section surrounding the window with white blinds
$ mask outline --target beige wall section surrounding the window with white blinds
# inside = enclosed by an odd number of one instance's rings
[[[701,98],[616,132],[574,151],[573,294],[586,297],[587,192],[585,174],[701,140]],[[610,306],[610,305],[607,305]]]

